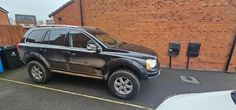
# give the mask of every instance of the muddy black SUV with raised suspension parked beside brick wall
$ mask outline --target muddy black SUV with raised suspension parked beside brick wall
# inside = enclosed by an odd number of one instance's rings
[[[121,42],[94,27],[39,26],[25,34],[17,49],[34,82],[46,83],[51,72],[103,79],[123,99],[139,93],[140,80],[160,74],[153,50]]]

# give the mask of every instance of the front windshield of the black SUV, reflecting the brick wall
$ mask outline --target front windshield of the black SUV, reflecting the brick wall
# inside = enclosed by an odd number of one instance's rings
[[[123,44],[120,40],[112,37],[111,35],[103,31],[91,30],[91,29],[90,30],[87,29],[87,31],[109,48],[116,48],[119,47],[121,44]]]

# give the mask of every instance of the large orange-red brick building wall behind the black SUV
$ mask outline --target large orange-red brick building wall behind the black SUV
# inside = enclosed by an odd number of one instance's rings
[[[50,14],[56,24],[80,25],[80,0]],[[173,68],[185,68],[189,42],[201,43],[189,69],[223,71],[236,35],[236,0],[82,0],[84,25],[147,46],[168,67],[170,42],[181,43]],[[58,21],[60,18],[62,21]],[[236,71],[236,49],[230,62]]]

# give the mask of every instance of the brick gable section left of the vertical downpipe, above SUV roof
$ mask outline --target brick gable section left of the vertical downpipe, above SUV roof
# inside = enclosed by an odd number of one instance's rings
[[[80,24],[80,4],[74,1],[58,13],[53,18],[56,24],[81,25]],[[61,20],[59,20],[61,18]]]

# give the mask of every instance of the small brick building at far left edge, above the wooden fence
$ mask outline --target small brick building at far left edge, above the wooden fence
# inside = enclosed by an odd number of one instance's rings
[[[0,25],[10,25],[8,11],[0,7]]]

